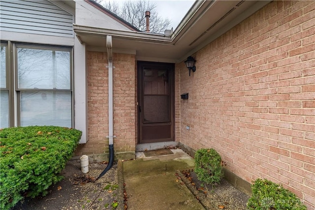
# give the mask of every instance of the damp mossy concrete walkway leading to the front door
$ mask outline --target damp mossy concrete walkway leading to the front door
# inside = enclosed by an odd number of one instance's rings
[[[174,154],[145,157],[122,163],[128,210],[203,210],[202,205],[177,178],[177,170],[191,169],[194,160],[181,149]]]

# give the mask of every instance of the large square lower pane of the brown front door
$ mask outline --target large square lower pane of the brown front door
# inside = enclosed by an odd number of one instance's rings
[[[170,122],[168,96],[144,96],[144,123]]]

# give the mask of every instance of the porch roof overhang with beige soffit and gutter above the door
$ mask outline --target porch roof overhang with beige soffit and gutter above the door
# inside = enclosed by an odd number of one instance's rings
[[[267,1],[195,1],[173,34],[115,31],[105,28],[73,25],[81,43],[106,50],[106,36],[111,35],[113,52],[133,51],[137,60],[180,63],[202,47],[224,34]]]

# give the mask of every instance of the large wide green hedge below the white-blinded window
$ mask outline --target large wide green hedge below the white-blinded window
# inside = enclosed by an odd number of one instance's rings
[[[60,181],[58,175],[71,158],[81,131],[56,126],[0,130],[0,209],[24,198],[45,196]]]

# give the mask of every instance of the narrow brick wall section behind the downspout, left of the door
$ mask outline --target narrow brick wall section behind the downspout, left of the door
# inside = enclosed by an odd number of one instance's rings
[[[88,142],[76,155],[108,153],[108,60],[105,52],[87,52]],[[114,151],[134,152],[136,140],[135,57],[113,54]]]

